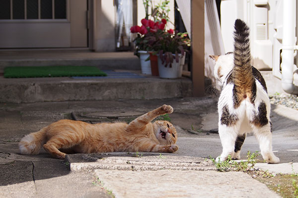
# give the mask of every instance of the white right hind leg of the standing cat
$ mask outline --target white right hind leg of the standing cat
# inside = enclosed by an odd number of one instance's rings
[[[254,134],[259,142],[263,158],[267,163],[275,164],[279,163],[280,159],[272,151],[272,132],[270,128],[269,123],[263,127],[255,127]]]

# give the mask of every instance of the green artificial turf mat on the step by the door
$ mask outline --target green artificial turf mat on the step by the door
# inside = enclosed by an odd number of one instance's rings
[[[107,76],[94,66],[22,66],[4,68],[4,78]]]

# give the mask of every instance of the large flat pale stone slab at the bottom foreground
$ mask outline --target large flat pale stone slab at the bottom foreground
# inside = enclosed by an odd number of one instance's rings
[[[242,172],[95,170],[116,198],[279,198]]]

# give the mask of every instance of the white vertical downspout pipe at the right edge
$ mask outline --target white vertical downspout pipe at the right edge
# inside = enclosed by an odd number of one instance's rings
[[[283,51],[282,51],[282,88],[289,94],[298,95],[294,85],[294,50],[296,40],[296,0],[283,0]]]

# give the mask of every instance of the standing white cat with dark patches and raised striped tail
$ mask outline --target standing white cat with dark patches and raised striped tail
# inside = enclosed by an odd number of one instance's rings
[[[234,26],[234,52],[211,56],[216,61],[214,74],[222,84],[218,111],[223,152],[217,161],[226,160],[228,155],[240,159],[246,134],[252,131],[267,163],[278,163],[279,158],[272,152],[266,83],[261,73],[251,66],[249,28],[239,19]]]

